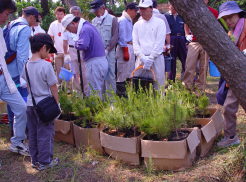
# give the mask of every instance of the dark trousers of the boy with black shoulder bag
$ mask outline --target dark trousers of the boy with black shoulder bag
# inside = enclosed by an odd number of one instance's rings
[[[43,123],[34,107],[27,107],[29,151],[32,163],[49,164],[53,159],[54,122]]]

